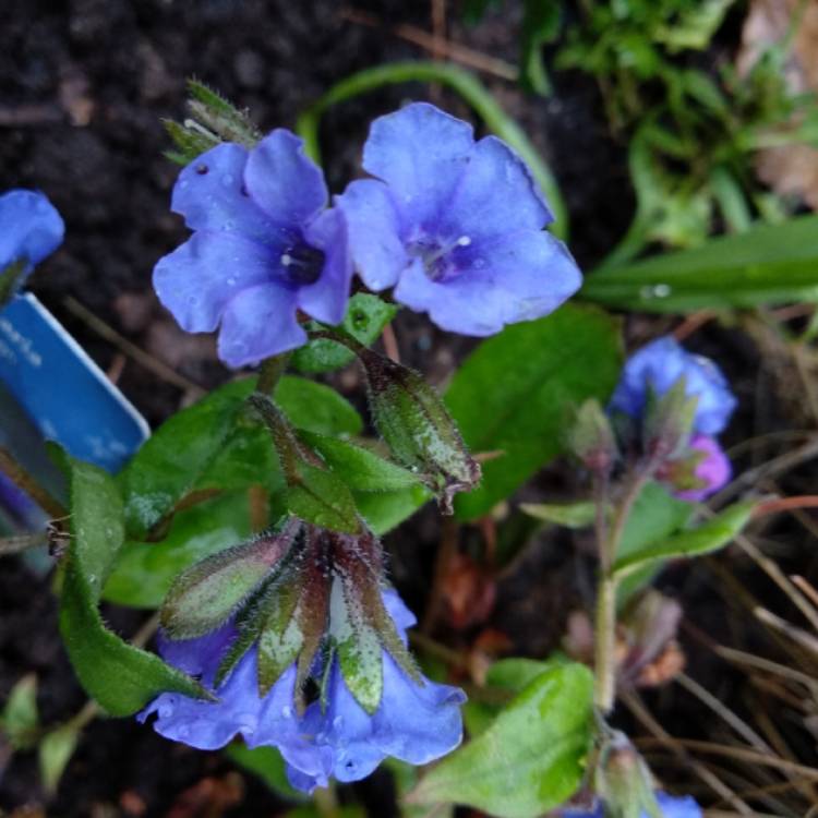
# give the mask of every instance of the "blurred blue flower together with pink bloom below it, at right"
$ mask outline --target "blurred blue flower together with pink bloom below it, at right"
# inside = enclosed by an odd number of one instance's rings
[[[634,428],[643,430],[651,411],[681,387],[690,401],[683,450],[664,460],[657,474],[681,498],[701,501],[731,476],[730,461],[715,435],[726,426],[736,399],[715,363],[687,352],[672,337],[658,338],[626,362],[609,412],[614,420],[625,419],[625,434],[633,434]]]

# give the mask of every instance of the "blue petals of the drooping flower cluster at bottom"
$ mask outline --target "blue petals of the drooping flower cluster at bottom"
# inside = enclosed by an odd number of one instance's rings
[[[387,591],[383,599],[405,637],[414,617],[397,593]],[[304,792],[326,786],[330,775],[339,781],[365,778],[386,756],[426,763],[460,743],[462,691],[428,679],[422,685],[416,683],[386,651],[383,697],[372,715],[347,689],[337,660],[329,670],[325,706],[314,701],[303,715],[296,706],[294,662],[269,693],[260,697],[255,646],[214,687],[217,669],[234,638],[236,630],[228,624],[197,639],[160,639],[165,660],[199,676],[218,701],[164,693],[140,713],[140,720],[155,714],[158,733],[200,749],[224,747],[237,735],[249,747],[277,747],[287,761],[290,782]]]

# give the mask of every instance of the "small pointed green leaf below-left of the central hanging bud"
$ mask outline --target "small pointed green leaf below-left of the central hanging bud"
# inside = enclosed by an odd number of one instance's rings
[[[310,432],[299,436],[352,491],[394,492],[420,485],[417,474],[369,448]]]

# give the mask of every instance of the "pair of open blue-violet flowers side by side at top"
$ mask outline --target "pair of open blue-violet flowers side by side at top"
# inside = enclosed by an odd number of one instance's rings
[[[485,336],[546,315],[580,274],[543,228],[553,220],[521,159],[503,142],[418,103],[372,124],[363,167],[327,208],[301,141],[273,131],[246,148],[221,143],[185,167],[172,208],[193,236],[159,261],[159,300],[189,332],[219,330],[230,366],[306,341],[299,312],[346,312],[353,268],[372,290],[444,329]]]

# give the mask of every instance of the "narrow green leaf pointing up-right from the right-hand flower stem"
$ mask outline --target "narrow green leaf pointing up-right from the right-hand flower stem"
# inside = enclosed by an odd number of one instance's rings
[[[617,577],[626,577],[658,562],[719,551],[741,533],[755,506],[753,501],[736,503],[696,528],[659,540],[648,548],[631,551],[616,560],[613,572]]]

